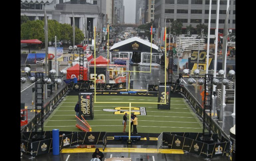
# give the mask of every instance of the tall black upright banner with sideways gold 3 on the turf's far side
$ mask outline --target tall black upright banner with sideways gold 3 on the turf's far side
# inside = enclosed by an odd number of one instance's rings
[[[170,102],[171,102],[170,94],[171,94],[170,86],[166,86],[166,95],[165,95],[165,86],[159,86],[158,103],[165,103],[165,98],[166,98],[166,105],[157,104],[157,109],[170,110]]]

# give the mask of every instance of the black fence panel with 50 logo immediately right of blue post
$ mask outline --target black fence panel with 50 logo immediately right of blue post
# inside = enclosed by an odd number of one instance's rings
[[[71,134],[62,134],[60,136],[60,150],[77,144],[77,132]]]

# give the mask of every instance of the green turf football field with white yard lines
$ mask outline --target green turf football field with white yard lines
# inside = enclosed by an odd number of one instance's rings
[[[96,98],[98,102],[157,102],[157,97],[143,96],[96,96]],[[78,96],[66,96],[44,122],[44,130],[50,131],[57,128],[60,131],[81,131],[75,127],[74,107],[77,101]],[[192,112],[184,98],[171,98],[171,110],[158,110],[157,104],[132,104],[131,106],[146,108],[146,116],[137,115],[138,133],[202,132],[202,122]],[[129,104],[94,103],[94,119],[87,121],[92,131],[122,132],[123,115],[102,111],[102,109],[116,107],[129,107]],[[129,118],[128,115],[127,118]],[[126,126],[127,132],[128,128],[129,126]]]

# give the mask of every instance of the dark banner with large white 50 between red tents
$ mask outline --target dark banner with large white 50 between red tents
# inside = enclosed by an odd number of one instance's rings
[[[109,78],[107,78],[107,68],[106,67],[96,67],[95,76],[94,76],[94,66],[89,66],[89,79],[94,82],[94,77],[96,77],[96,83],[109,83]],[[99,80],[102,80],[98,82]]]

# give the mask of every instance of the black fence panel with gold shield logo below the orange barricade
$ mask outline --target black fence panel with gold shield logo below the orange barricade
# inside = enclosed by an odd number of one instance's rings
[[[103,137],[106,132],[77,132],[78,144],[85,145],[103,145]]]

